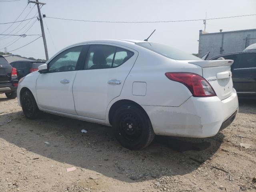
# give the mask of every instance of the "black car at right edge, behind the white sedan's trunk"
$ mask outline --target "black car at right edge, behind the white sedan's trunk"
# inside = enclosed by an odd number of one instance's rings
[[[256,51],[222,54],[210,60],[217,60],[220,57],[234,60],[231,71],[238,96],[256,96]]]

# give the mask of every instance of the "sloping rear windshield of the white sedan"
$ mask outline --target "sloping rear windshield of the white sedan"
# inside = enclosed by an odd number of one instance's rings
[[[192,54],[188,54],[181,50],[160,43],[139,42],[135,44],[174,60],[202,60]]]

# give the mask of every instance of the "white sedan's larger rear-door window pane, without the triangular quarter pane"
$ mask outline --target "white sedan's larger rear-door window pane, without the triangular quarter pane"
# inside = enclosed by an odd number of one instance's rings
[[[84,69],[111,68],[116,48],[108,45],[91,45]]]

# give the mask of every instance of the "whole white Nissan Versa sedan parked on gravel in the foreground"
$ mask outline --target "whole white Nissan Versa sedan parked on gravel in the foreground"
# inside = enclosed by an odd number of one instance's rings
[[[18,104],[112,126],[122,146],[148,146],[155,134],[205,138],[238,111],[232,60],[204,61],[154,42],[96,40],[69,46],[20,79]]]

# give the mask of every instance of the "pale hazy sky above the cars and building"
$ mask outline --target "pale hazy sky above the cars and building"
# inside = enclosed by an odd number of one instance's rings
[[[0,23],[16,20],[27,5],[27,0],[1,1],[4,0],[0,0]],[[256,14],[256,0],[40,0],[40,2],[46,3],[42,6],[41,13],[48,17],[78,20],[165,21]],[[32,18],[36,13],[36,6],[30,3],[18,20],[23,20],[26,15],[27,18]],[[12,26],[0,24],[0,34],[23,34],[22,32],[26,31],[34,21],[36,18]],[[154,29],[156,31],[149,41],[167,44],[188,53],[198,53],[199,30],[204,29],[203,21],[132,24],[43,18],[43,22],[49,58],[66,46],[87,40],[144,40]],[[8,27],[10,28],[6,30]],[[207,32],[255,28],[256,16],[206,21]],[[42,34],[40,22],[36,21],[26,34]],[[1,35],[0,51],[4,52],[6,46],[7,51],[20,48],[38,37],[26,36],[13,43],[19,37]],[[39,38],[23,48],[12,51],[12,54],[45,59],[43,40]]]

